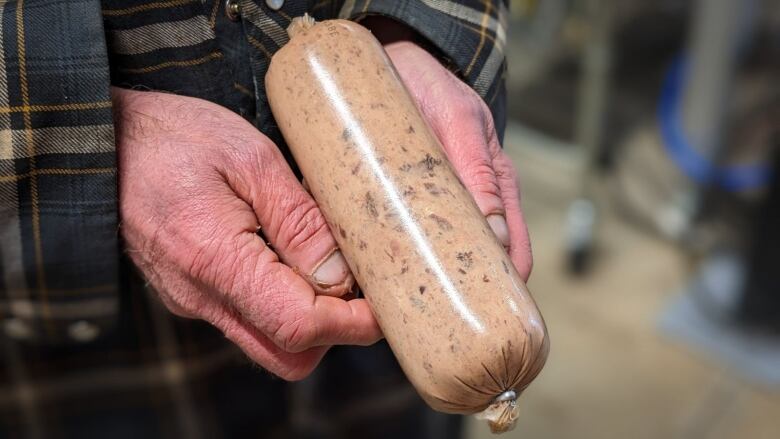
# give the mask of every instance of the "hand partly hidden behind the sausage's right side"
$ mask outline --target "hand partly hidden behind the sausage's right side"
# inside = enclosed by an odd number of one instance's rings
[[[509,249],[520,276],[528,280],[531,244],[520,210],[517,173],[498,144],[487,105],[419,46],[400,41],[386,45],[385,50],[460,180]]]

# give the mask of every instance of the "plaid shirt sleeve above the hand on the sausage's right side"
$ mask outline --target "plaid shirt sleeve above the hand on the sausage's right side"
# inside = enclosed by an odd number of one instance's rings
[[[496,129],[506,126],[506,0],[347,0],[340,16],[382,15],[414,29],[487,102]]]

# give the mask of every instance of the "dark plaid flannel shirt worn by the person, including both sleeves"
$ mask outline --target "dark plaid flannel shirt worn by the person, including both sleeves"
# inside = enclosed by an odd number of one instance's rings
[[[457,434],[382,343],[289,385],[149,298],[120,251],[109,84],[216,102],[285,151],[263,77],[291,17],[383,15],[502,132],[506,2],[238,1],[232,21],[224,0],[0,0],[0,438]]]

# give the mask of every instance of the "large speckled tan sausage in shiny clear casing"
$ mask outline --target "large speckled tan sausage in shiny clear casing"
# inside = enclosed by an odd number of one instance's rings
[[[549,349],[525,284],[373,35],[288,32],[273,115],[401,367],[434,409],[511,428]]]

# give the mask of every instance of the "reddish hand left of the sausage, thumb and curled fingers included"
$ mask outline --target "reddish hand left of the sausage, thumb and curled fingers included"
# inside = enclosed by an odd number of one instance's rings
[[[273,142],[210,102],[112,94],[120,230],[172,312],[208,321],[288,380],[331,345],[381,338],[365,300],[338,297],[352,275]]]

